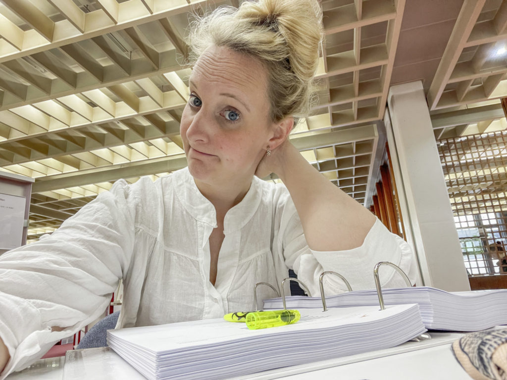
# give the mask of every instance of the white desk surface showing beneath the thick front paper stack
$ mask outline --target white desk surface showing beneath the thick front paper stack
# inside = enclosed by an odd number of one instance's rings
[[[451,352],[459,333],[431,333],[432,339],[407,342],[387,350],[278,368],[234,380],[470,380]],[[68,351],[66,358],[43,359],[7,377],[7,380],[144,380],[133,367],[109,348]],[[232,379],[231,379],[232,380]]]

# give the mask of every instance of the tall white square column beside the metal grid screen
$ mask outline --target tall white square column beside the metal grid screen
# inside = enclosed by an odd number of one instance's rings
[[[385,125],[407,240],[422,284],[469,290],[422,83],[392,86]]]

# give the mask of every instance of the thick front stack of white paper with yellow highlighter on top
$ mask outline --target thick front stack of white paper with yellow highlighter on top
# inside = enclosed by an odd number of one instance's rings
[[[149,379],[220,379],[394,347],[424,331],[417,305],[301,310],[293,325],[249,330],[223,319],[108,330]]]

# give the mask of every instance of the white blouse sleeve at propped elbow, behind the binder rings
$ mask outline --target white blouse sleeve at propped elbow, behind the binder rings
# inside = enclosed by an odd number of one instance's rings
[[[296,208],[289,200],[281,216],[278,237],[281,239],[279,243],[282,245],[285,264],[294,269],[312,296],[320,295],[319,276],[324,271],[341,274],[353,290],[375,288],[373,268],[380,261],[398,265],[412,284],[417,277],[412,249],[402,238],[389,232],[379,219],[360,247],[345,251],[314,251],[306,243]],[[405,280],[390,267],[382,267],[379,278],[383,287],[406,286]],[[345,283],[332,275],[324,277],[324,289],[330,295],[347,291]]]

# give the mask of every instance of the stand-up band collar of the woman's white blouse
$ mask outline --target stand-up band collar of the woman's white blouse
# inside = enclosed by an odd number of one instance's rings
[[[232,207],[224,220],[224,234],[240,230],[256,213],[262,198],[261,179],[253,177],[248,192],[241,202]],[[180,202],[192,217],[216,228],[216,211],[213,204],[199,191],[188,167],[173,173],[173,189]]]

